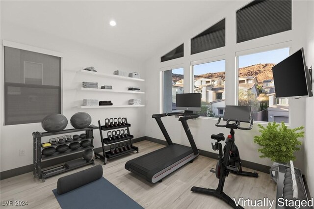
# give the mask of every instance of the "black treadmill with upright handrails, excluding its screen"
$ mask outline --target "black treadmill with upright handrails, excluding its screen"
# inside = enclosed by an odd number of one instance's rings
[[[161,117],[167,116],[180,116],[179,121],[182,123],[191,147],[172,143],[170,136],[161,121]],[[148,153],[144,156],[129,160],[125,164],[125,168],[138,176],[141,176],[150,183],[156,183],[161,182],[164,177],[182,167],[186,163],[193,162],[193,159],[199,156],[200,152],[195,145],[193,136],[187,125],[187,120],[198,117],[200,117],[199,114],[190,112],[154,114],[153,118],[156,119],[160,130],[167,140],[168,146]]]

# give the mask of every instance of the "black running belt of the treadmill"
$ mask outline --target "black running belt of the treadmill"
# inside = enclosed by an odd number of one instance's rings
[[[191,147],[173,144],[154,152],[129,160],[125,168],[142,177],[152,178],[157,172],[193,153]],[[130,171],[131,171],[130,170]]]

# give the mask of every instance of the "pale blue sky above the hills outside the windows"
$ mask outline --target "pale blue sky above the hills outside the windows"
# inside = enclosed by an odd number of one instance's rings
[[[239,56],[239,68],[259,63],[277,64],[288,56],[289,48],[243,55]],[[194,75],[202,75],[209,72],[216,73],[222,71],[225,71],[225,60],[194,65]],[[174,69],[172,70],[172,73],[183,75],[183,68]]]

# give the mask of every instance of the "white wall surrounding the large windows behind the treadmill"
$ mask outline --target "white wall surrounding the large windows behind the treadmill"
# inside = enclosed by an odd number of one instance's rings
[[[176,40],[169,40],[165,47],[157,50],[156,55],[146,62],[146,70],[150,72],[150,77],[146,79],[146,135],[154,138],[164,139],[161,131],[158,129],[156,122],[152,119],[152,114],[160,111],[160,71],[172,69],[175,67],[184,67],[184,92],[191,92],[191,65],[190,62],[203,60],[206,62],[215,61],[215,57],[226,59],[226,104],[235,104],[237,83],[236,59],[235,55],[244,55],[260,51],[268,51],[277,48],[291,47],[291,52],[304,47],[305,45],[305,25],[307,8],[306,1],[293,1],[292,25],[290,31],[258,38],[251,41],[235,44],[235,11],[247,4],[249,1],[230,1],[228,7],[217,13],[208,15],[208,19],[200,20],[194,28],[185,28]],[[214,49],[208,52],[202,52],[190,55],[190,38],[204,31],[209,26],[214,25],[226,17],[226,46]],[[184,57],[160,63],[160,55],[168,52],[184,42]],[[278,44],[280,43],[280,44]],[[218,59],[218,58],[217,58]],[[157,88],[157,86],[159,88]],[[157,99],[159,98],[159,100]],[[291,101],[291,127],[305,125],[305,99]],[[293,111],[292,111],[293,110]],[[170,128],[169,135],[175,143],[188,145],[181,123],[177,118],[164,118],[165,126]],[[217,119],[199,118],[189,121],[191,132],[193,133],[196,145],[199,149],[213,152],[210,146],[210,134],[224,132],[227,129],[215,127]],[[259,146],[253,142],[254,135],[259,134],[258,127],[255,125],[251,131],[236,130],[236,144],[240,150],[241,158],[244,160],[260,163],[270,166],[272,162],[269,159],[260,158],[257,149]],[[303,141],[303,139],[301,139]],[[295,165],[303,170],[304,168],[304,148],[296,153],[297,160]]]

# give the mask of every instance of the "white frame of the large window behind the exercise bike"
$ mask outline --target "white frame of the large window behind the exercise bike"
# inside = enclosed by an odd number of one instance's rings
[[[242,42],[241,42],[242,43]],[[238,43],[238,44],[241,44]],[[289,48],[289,55],[291,55],[292,52],[292,41],[286,41],[286,42],[281,42],[277,44],[271,44],[267,46],[261,46],[257,48],[251,48],[247,50],[242,50],[242,51],[236,51],[235,52],[235,105],[238,105],[238,78],[239,78],[239,56],[244,56],[244,55],[250,55],[254,53],[261,53],[261,52],[268,52],[268,51],[273,51],[273,50],[279,50],[279,49],[284,49],[284,48]],[[288,103],[292,104],[292,99],[288,98]],[[289,113],[288,113],[288,123],[285,123],[286,125],[290,126],[291,125],[291,119],[292,119],[292,105],[289,107]],[[267,121],[255,121],[256,123],[259,124],[268,124],[269,122]]]

